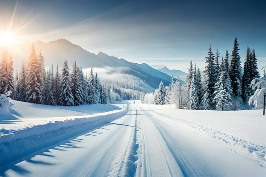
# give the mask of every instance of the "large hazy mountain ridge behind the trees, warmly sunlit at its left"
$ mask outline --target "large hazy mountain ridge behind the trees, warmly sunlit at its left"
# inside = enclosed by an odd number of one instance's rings
[[[146,63],[137,64],[128,62],[125,59],[119,59],[115,56],[109,56],[103,52],[98,54],[91,53],[82,47],[71,43],[66,39],[59,39],[48,43],[35,42],[36,51],[41,50],[47,67],[58,64],[61,67],[65,57],[69,64],[77,62],[83,68],[89,67],[112,67],[116,73],[132,74],[153,88],[157,88],[159,83],[163,81],[165,85],[171,82],[171,77],[160,72]],[[113,71],[112,71],[113,72]]]

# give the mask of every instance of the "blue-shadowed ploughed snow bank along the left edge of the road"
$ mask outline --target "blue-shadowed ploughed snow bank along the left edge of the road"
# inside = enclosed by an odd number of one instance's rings
[[[0,129],[0,166],[101,126],[125,113],[124,109],[116,109],[94,115],[55,117],[50,120],[26,119],[20,128],[17,127],[19,123],[14,124],[14,129],[7,125]]]

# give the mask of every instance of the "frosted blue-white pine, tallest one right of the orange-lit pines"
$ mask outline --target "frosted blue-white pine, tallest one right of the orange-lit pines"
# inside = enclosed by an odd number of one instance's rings
[[[59,105],[74,106],[74,96],[71,90],[71,78],[66,58],[62,68],[59,90]]]

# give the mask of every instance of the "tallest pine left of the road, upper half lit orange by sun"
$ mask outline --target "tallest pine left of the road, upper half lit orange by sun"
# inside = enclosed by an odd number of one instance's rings
[[[27,101],[30,103],[42,104],[42,87],[43,78],[40,62],[37,58],[35,47],[32,44],[31,53],[28,62],[28,77],[27,77]]]

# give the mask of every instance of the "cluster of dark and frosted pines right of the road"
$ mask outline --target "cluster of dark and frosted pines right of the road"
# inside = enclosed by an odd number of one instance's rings
[[[179,109],[184,105],[187,109],[195,110],[240,110],[247,109],[249,98],[254,94],[250,85],[253,79],[259,78],[257,58],[255,49],[247,47],[247,53],[242,69],[239,44],[237,38],[234,39],[231,56],[228,50],[225,52],[225,59],[220,59],[220,53],[216,54],[209,47],[204,73],[204,83],[201,73],[196,64],[190,61],[188,75],[186,77],[186,101],[182,100],[182,90],[180,80],[169,86],[159,88],[154,93],[154,104],[174,103]],[[164,99],[162,99],[162,97]],[[142,97],[142,102],[145,97]]]

